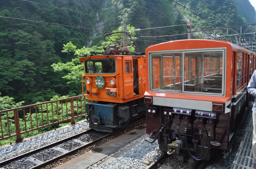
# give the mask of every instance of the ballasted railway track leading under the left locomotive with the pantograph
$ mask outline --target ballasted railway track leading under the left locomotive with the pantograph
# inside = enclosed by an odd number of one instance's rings
[[[145,118],[135,121],[132,124],[129,124],[126,128],[131,127],[134,124],[145,121]],[[99,132],[92,129],[84,131],[82,133],[70,136],[58,142],[40,147],[33,151],[15,156],[13,158],[7,159],[0,162],[0,169],[9,169],[9,168],[20,168],[20,164],[28,164],[28,167],[23,167],[24,169],[36,169],[44,167],[47,164],[54,162],[64,156],[74,154],[75,152],[89,147],[103,138],[111,136],[117,132],[120,132],[124,129],[119,129],[113,133]]]

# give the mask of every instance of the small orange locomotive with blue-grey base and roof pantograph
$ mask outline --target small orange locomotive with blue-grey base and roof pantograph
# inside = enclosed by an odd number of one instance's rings
[[[130,37],[122,31],[106,34],[104,39],[124,33]],[[102,55],[80,58],[84,64],[89,127],[97,131],[112,132],[145,112],[145,56],[129,54],[122,47],[121,43],[109,45]]]

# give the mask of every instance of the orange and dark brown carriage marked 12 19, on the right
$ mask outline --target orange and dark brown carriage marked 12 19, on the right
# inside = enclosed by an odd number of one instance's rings
[[[216,40],[178,40],[146,49],[147,133],[167,154],[209,160],[228,152],[245,116],[256,53]]]

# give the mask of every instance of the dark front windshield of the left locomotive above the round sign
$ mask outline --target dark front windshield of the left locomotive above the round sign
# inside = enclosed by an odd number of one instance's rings
[[[99,73],[115,73],[115,59],[90,59],[85,61],[85,73],[99,74]]]

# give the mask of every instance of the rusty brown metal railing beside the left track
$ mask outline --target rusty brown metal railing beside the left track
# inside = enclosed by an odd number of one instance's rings
[[[59,124],[86,114],[86,95],[74,96],[0,111],[0,140]]]

